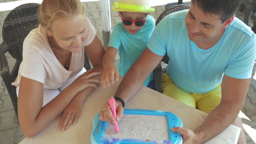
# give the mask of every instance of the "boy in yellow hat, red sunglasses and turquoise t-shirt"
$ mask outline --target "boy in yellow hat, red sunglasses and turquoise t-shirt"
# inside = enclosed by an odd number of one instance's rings
[[[155,28],[154,17],[148,13],[155,11],[149,7],[149,0],[119,0],[113,9],[118,11],[122,22],[113,27],[108,48],[103,56],[101,86],[108,87],[118,81],[119,75],[125,76],[131,65],[146,49]],[[118,71],[114,67],[117,52],[120,56]],[[153,73],[143,83],[154,88]]]

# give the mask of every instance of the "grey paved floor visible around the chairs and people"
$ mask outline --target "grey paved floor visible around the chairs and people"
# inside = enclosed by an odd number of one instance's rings
[[[13,2],[15,0],[0,0],[0,3],[4,2]],[[168,0],[165,0],[168,1]],[[114,0],[110,1],[110,5]],[[156,1],[155,1],[156,2]],[[168,2],[176,2],[176,0],[170,0]],[[101,14],[100,14],[100,2],[83,2],[86,7],[86,14],[89,17],[92,25],[94,25],[97,34],[100,39],[102,39],[102,22],[101,22]],[[154,4],[158,5],[158,4]],[[157,17],[165,10],[165,5],[159,5],[154,7],[155,12],[152,15],[157,19]],[[5,17],[9,13],[8,11],[1,11],[0,8],[0,44],[2,43],[2,25]],[[240,19],[243,19],[242,14],[237,14]],[[111,11],[111,21],[112,26],[114,26],[117,22],[120,21],[118,14],[115,11]],[[252,26],[252,22],[249,22],[249,26]],[[14,59],[8,56],[8,62],[10,64],[10,69],[13,67]],[[255,73],[255,66],[254,66]],[[253,74],[254,74],[253,73]],[[11,104],[7,89],[4,86],[2,78],[0,77],[0,143],[2,144],[13,144],[19,143],[24,136],[22,135],[17,120],[15,118],[15,113],[13,110],[13,106]],[[241,113],[243,116],[243,124],[247,131],[247,143],[252,144],[256,143],[256,76],[252,78],[251,86],[249,87],[249,91],[247,94],[247,98],[245,101],[245,106]]]

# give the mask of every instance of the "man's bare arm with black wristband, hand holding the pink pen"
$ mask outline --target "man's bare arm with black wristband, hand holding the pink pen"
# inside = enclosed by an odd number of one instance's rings
[[[148,75],[159,64],[163,56],[156,55],[148,48],[142,53],[137,61],[132,65],[126,73],[123,81],[120,83],[115,97],[120,97],[126,103],[132,95],[138,92],[142,87]],[[123,115],[124,109],[120,101],[117,101],[117,119]],[[109,109],[109,104],[106,103],[101,108],[100,119],[104,122],[115,124],[115,119]]]

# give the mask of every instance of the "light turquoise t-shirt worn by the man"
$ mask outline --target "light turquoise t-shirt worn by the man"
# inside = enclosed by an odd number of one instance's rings
[[[202,50],[188,38],[187,13],[183,10],[162,19],[148,43],[157,55],[167,52],[167,75],[172,81],[186,92],[206,93],[222,83],[224,74],[249,79],[256,57],[253,31],[235,17],[219,41]]]

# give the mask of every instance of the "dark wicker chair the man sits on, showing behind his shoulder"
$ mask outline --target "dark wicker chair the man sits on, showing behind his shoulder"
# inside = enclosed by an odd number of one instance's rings
[[[158,23],[167,15],[174,13],[176,11],[184,10],[184,9],[189,9],[189,5],[185,4],[179,4],[179,5],[173,5],[172,7],[166,9],[162,14],[158,17],[158,19],[155,22],[155,25],[158,25]],[[162,58],[161,62],[164,62],[168,64],[169,57],[165,54],[165,56]],[[155,86],[155,91],[158,91],[162,93],[162,88],[161,88],[161,75],[163,73],[166,73],[166,68],[162,68],[161,62],[158,64],[158,67],[154,69],[154,86]]]

